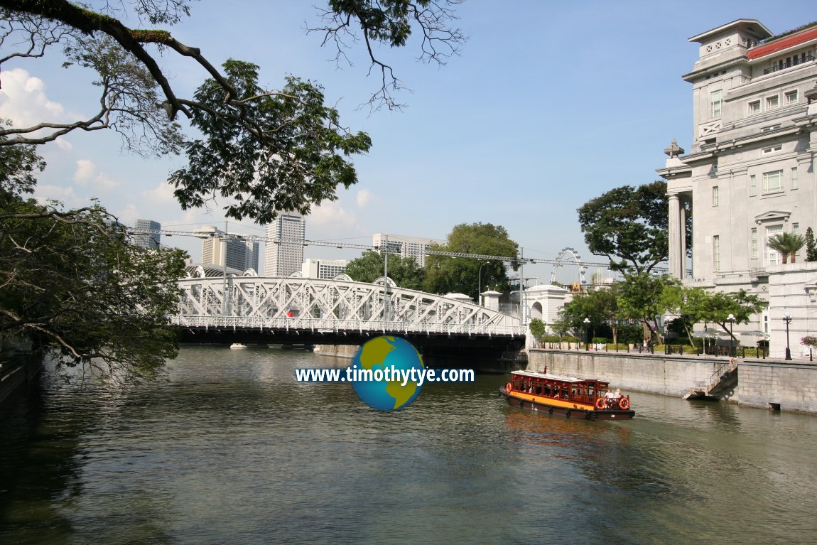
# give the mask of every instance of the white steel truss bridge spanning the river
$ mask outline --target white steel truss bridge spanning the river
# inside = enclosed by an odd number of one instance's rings
[[[519,339],[525,328],[514,316],[455,298],[397,288],[391,279],[375,284],[335,279],[208,276],[197,267],[182,279],[179,314],[185,341],[319,342],[353,344],[377,334],[406,337]],[[325,339],[322,341],[321,339]]]

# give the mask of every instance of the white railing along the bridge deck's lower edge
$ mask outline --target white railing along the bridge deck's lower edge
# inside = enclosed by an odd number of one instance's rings
[[[358,319],[263,318],[259,316],[172,315],[171,324],[186,328],[265,329],[310,331],[311,333],[394,333],[435,335],[503,335],[522,337],[525,328],[496,324],[435,324]]]

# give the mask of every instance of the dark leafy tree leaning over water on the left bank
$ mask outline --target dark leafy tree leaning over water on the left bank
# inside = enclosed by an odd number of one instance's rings
[[[176,355],[181,250],[132,244],[99,205],[42,206],[25,194],[42,160],[0,148],[0,342],[30,342],[97,375],[153,378]]]

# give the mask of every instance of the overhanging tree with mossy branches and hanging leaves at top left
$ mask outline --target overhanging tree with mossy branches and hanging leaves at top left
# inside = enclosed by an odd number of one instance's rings
[[[329,0],[325,25],[315,30],[337,44],[362,37],[381,70],[373,104],[396,105],[400,87],[373,45],[402,47],[416,32],[422,56],[443,60],[464,39],[449,23],[458,0]],[[96,71],[96,113],[71,123],[43,119],[30,127],[2,127],[2,145],[42,144],[74,131],[114,129],[124,147],[143,154],[185,151],[188,165],[173,173],[182,207],[225,199],[225,214],[268,222],[277,212],[307,212],[310,203],[335,199],[337,185],[357,180],[348,157],[371,145],[364,133],[342,127],[324,105],[319,85],[292,77],[279,88],[261,87],[257,67],[226,60],[221,69],[173,38],[170,28],[190,15],[188,0],[0,0],[0,69],[9,60],[36,60],[62,47],[66,65]],[[128,27],[132,21],[146,28]],[[158,51],[189,58],[209,78],[184,97],[160,65]],[[79,74],[79,73],[78,73]],[[200,138],[185,141],[177,123],[189,119]]]

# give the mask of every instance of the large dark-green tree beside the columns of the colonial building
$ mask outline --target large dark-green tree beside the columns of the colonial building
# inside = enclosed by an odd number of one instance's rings
[[[667,182],[623,185],[578,208],[578,223],[587,248],[605,256],[614,270],[650,272],[669,257]],[[686,248],[692,248],[691,215],[687,214]]]

